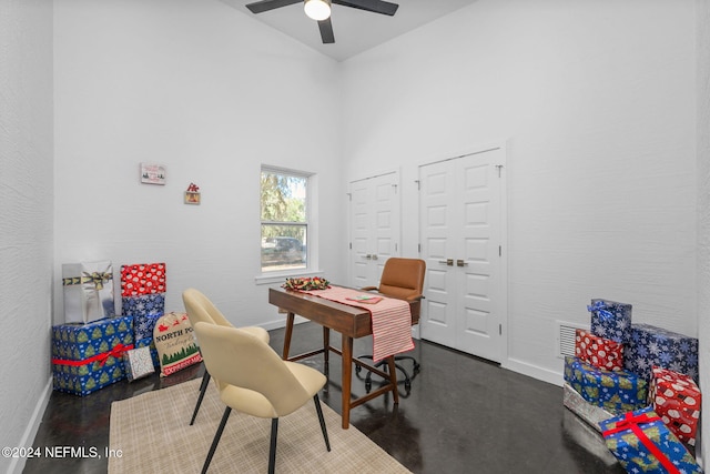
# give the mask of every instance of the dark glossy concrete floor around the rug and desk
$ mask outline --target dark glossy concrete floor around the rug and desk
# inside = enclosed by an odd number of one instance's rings
[[[272,331],[278,353],[283,330]],[[321,343],[321,327],[294,329],[292,354]],[[339,344],[339,336],[332,335]],[[372,339],[355,342],[355,354],[372,352]],[[601,437],[562,406],[561,387],[520,375],[496,364],[425,341],[412,353],[422,364],[400,401],[379,396],[351,412],[351,423],[414,473],[623,473]],[[323,369],[323,357],[304,361]],[[341,412],[341,360],[331,356],[329,383],[321,400]],[[406,362],[404,363],[407,367]],[[158,375],[119,382],[85,397],[53,392],[34,446],[109,444],[111,402],[202,376],[202,364],[166,379]],[[355,395],[365,393],[361,374]],[[189,413],[181,416],[189,423]],[[215,426],[216,428],[216,426]],[[335,428],[335,427],[329,427]],[[339,427],[338,427],[339,428]],[[206,453],[205,453],[206,454]],[[33,458],[24,473],[101,473],[105,458]],[[146,466],[145,472],[151,472]],[[364,473],[358,473],[364,474]]]

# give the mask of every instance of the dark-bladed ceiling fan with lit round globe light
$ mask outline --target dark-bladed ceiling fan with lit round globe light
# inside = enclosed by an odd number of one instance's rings
[[[333,23],[331,23],[331,3],[343,7],[356,8],[358,10],[372,11],[373,13],[394,16],[399,6],[384,0],[261,0],[248,3],[246,8],[252,13],[263,13],[294,3],[303,2],[306,14],[318,22],[321,39],[324,44],[334,43]]]

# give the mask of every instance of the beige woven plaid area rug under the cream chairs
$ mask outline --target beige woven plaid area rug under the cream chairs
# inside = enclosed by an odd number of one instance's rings
[[[113,402],[109,474],[199,473],[224,412],[210,383],[194,425],[200,380]],[[313,402],[278,423],[277,473],[409,473],[367,436],[323,405],[332,451],[325,448]],[[210,473],[265,473],[271,420],[232,411]]]

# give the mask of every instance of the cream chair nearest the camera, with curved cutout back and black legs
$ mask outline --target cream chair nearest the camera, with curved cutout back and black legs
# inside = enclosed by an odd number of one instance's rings
[[[200,322],[195,324],[204,363],[219,381],[220,399],[226,405],[214,434],[202,473],[207,472],[232,409],[247,415],[271,418],[268,473],[276,463],[278,417],[302,407],[310,399],[321,422],[325,447],[331,451],[318,391],[327,379],[315,369],[283,361],[264,341],[244,330]]]

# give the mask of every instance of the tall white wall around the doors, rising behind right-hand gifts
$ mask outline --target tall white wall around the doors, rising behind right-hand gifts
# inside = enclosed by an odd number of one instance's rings
[[[691,1],[479,0],[344,63],[346,179],[506,143],[505,365],[561,383],[592,297],[697,335],[694,61]]]

